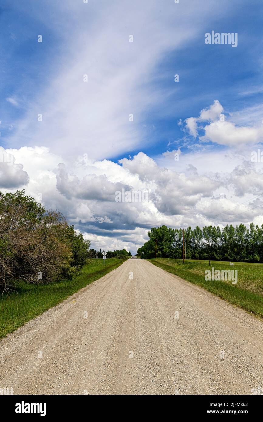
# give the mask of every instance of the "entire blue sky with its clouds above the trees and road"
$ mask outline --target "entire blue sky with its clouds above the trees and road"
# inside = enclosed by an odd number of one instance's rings
[[[255,0],[2,2],[0,146],[15,165],[3,163],[1,190],[41,192],[46,206],[62,208],[77,229],[92,234],[94,246],[106,242],[133,252],[153,225],[212,224],[208,208],[227,210],[239,197],[253,197],[261,188],[261,164],[246,167],[251,180],[258,177],[254,187],[243,186],[237,174],[262,142],[262,11],[262,1]],[[238,46],[205,44],[212,30],[238,33]],[[217,123],[220,112],[210,116],[215,101],[227,120],[223,125]],[[208,119],[200,117],[204,109]],[[192,117],[196,133],[187,123]],[[190,188],[193,167],[200,180],[195,177],[198,186]],[[190,178],[189,192],[178,184],[170,195],[171,202],[187,197],[186,208],[163,205],[163,168],[165,177],[171,172],[167,185],[182,174]],[[87,192],[76,196],[73,184],[69,192],[61,172],[78,186],[86,181]],[[149,207],[134,211],[130,204],[117,212],[111,195],[90,194],[92,174],[149,189]],[[202,192],[203,177],[211,181],[209,192]],[[213,202],[222,190],[226,202]],[[259,221],[260,212],[247,218]]]

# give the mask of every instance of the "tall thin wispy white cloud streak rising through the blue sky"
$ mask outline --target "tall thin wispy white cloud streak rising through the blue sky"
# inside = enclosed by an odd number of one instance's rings
[[[211,2],[213,13],[225,13],[222,4]],[[46,33],[57,31],[63,60],[58,54],[56,61],[52,50],[49,84],[16,122],[10,144],[46,145],[64,157],[73,156],[77,146],[79,154],[101,160],[132,151],[142,141],[144,146],[150,143],[143,128],[146,115],[164,102],[164,91],[153,89],[163,75],[153,74],[153,69],[165,54],[176,54],[200,33],[194,22],[206,21],[211,2],[202,8],[195,2],[178,8],[173,2],[163,7],[159,0],[102,0],[99,6],[65,1],[61,8],[60,3],[47,1],[43,8],[31,1],[28,13],[46,25]],[[227,2],[223,4],[227,8]],[[83,81],[86,74],[88,82]],[[42,122],[38,114],[43,115]]]

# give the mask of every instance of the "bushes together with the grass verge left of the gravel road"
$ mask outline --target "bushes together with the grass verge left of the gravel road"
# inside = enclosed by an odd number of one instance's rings
[[[104,251],[89,246],[60,211],[46,210],[24,190],[0,192],[0,337],[131,255],[108,252],[103,262]]]

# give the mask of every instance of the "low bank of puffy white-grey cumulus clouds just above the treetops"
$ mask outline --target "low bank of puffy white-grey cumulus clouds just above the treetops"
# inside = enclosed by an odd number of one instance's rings
[[[70,224],[92,241],[94,248],[127,247],[136,253],[147,240],[147,231],[154,226],[203,227],[224,224],[224,219],[225,224],[247,223],[262,213],[258,207],[231,218],[260,201],[248,202],[233,211],[231,208],[263,191],[263,174],[258,163],[242,157],[236,158],[236,165],[231,170],[226,166],[220,174],[211,170],[201,174],[199,168],[204,157],[200,162],[185,162],[184,170],[179,170],[176,167],[179,162],[174,162],[174,168],[166,167],[164,161],[160,166],[143,152],[130,159],[123,158],[119,163],[110,160],[87,162],[80,158],[61,163],[61,157],[50,153],[46,147],[22,147],[8,150],[8,153],[21,164],[1,163],[1,180],[5,181],[1,190],[13,192],[18,183],[26,183],[27,194],[37,200],[41,198],[46,208],[60,209]],[[168,155],[163,158],[168,159]],[[10,172],[15,169],[15,183],[12,184],[13,173]],[[116,202],[115,192],[122,188],[146,189],[148,201]],[[220,216],[214,217],[217,214]]]

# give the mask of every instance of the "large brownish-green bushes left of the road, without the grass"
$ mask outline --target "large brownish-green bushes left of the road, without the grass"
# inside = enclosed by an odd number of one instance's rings
[[[19,279],[71,278],[84,265],[89,246],[59,211],[47,211],[24,190],[0,192],[0,291]]]

